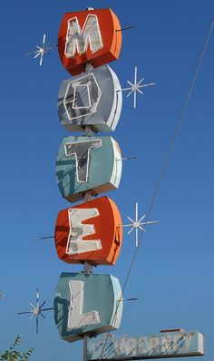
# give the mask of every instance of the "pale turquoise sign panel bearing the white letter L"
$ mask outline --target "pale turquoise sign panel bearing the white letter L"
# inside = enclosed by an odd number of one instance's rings
[[[111,275],[62,273],[54,297],[54,320],[69,342],[120,327],[122,289]]]

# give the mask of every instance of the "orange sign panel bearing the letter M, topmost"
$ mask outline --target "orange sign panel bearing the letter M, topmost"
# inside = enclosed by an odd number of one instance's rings
[[[118,59],[121,24],[111,9],[66,13],[58,35],[58,51],[65,69],[77,75],[91,63],[97,67]]]

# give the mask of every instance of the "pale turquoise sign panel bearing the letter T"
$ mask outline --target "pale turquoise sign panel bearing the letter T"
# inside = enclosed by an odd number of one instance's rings
[[[66,137],[56,160],[62,196],[71,202],[118,188],[122,175],[119,145],[110,136]]]

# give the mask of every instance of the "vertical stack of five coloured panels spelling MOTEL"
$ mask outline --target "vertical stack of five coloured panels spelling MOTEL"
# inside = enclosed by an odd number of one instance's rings
[[[106,63],[117,59],[121,25],[111,9],[67,13],[58,37],[64,68],[74,76],[64,80],[58,114],[69,132],[83,136],[63,139],[56,160],[59,190],[66,200],[83,203],[60,210],[55,248],[66,263],[114,265],[122,247],[122,219],[108,197],[92,199],[119,187],[122,155],[111,136],[122,111],[117,75]],[[86,72],[85,72],[86,71]],[[90,201],[86,201],[90,200]],[[63,273],[54,298],[54,319],[60,336],[69,342],[120,327],[122,289],[111,275]]]

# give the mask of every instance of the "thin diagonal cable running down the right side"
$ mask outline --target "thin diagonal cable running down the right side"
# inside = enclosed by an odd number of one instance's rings
[[[175,132],[173,133],[172,139],[171,139],[171,141],[170,141],[170,145],[169,145],[169,148],[168,148],[168,151],[167,151],[166,158],[165,158],[165,160],[163,161],[162,169],[161,169],[161,171],[160,171],[160,177],[159,177],[158,182],[157,182],[157,185],[156,185],[156,187],[155,187],[155,189],[154,189],[154,191],[153,191],[153,196],[152,196],[152,198],[151,198],[151,204],[150,204],[150,207],[149,207],[149,210],[148,210],[148,213],[147,213],[147,217],[146,217],[145,223],[149,220],[149,217],[150,217],[150,215],[151,215],[151,210],[152,210],[152,208],[153,208],[154,202],[155,202],[155,200],[156,200],[156,198],[157,198],[157,195],[158,195],[158,191],[159,191],[159,189],[160,189],[160,182],[161,182],[161,180],[163,179],[164,174],[165,174],[165,172],[166,172],[166,170],[167,170],[167,166],[168,166],[168,163],[169,163],[169,161],[170,161],[170,156],[171,156],[171,153],[172,153],[172,150],[173,150],[173,147],[174,147],[174,143],[175,143],[175,141],[176,141],[176,139],[177,139],[177,137],[178,137],[178,135],[179,135],[180,126],[181,126],[183,117],[184,117],[184,115],[185,115],[185,112],[186,112],[188,103],[189,103],[189,101],[190,101],[190,95],[191,95],[192,90],[193,90],[193,88],[194,88],[194,85],[195,85],[195,82],[196,82],[196,79],[197,79],[197,75],[198,75],[198,73],[199,73],[200,65],[201,65],[201,63],[202,63],[202,61],[203,61],[204,54],[205,54],[206,49],[207,49],[207,46],[208,46],[208,44],[209,44],[209,38],[210,38],[210,36],[211,36],[211,34],[212,34],[213,27],[214,27],[214,20],[212,21],[212,24],[211,24],[210,29],[209,29],[209,34],[208,34],[208,36],[207,36],[207,38],[206,38],[205,44],[204,44],[204,46],[203,46],[203,50],[202,50],[202,52],[201,52],[201,54],[200,54],[200,56],[199,56],[199,62],[198,62],[198,65],[197,65],[197,67],[196,67],[195,73],[193,73],[192,80],[191,80],[191,82],[190,82],[189,92],[187,93],[187,96],[186,96],[185,101],[184,101],[184,103],[183,103],[183,106],[182,106],[182,108],[181,108],[180,116],[179,116],[179,118],[178,118],[178,122],[177,122],[176,128],[175,128]],[[144,229],[145,229],[145,228],[146,228],[146,224],[145,224]],[[133,264],[134,264],[134,261],[135,261],[135,259],[136,259],[136,257],[137,257],[138,249],[139,249],[140,246],[141,246],[143,234],[144,234],[144,231],[141,231],[141,237],[140,237],[140,240],[139,240],[139,246],[135,249],[135,252],[134,252],[134,254],[133,254],[133,258],[131,259],[130,268],[129,268],[129,270],[128,270],[127,276],[126,276],[126,278],[125,278],[125,282],[124,282],[123,287],[122,287],[122,296],[123,296],[124,290],[125,290],[125,288],[126,288],[126,286],[127,286],[128,280],[129,280],[129,278],[130,278],[131,269],[132,269]],[[114,317],[115,317],[116,314],[117,314],[117,310],[118,310],[118,307],[119,307],[119,305],[120,305],[120,302],[122,302],[122,296],[121,296],[121,298],[120,298],[119,301],[118,301],[118,306],[116,307]],[[114,317],[113,317],[113,318],[114,318]],[[106,344],[107,344],[107,341],[108,341],[109,336],[110,336],[110,332],[107,334],[106,339],[105,339],[105,342],[104,342],[104,345],[103,345],[103,347],[102,347],[101,356],[99,357],[99,360],[100,360],[100,361],[102,361],[102,355],[103,355],[103,352],[104,352],[104,349],[105,349],[105,346],[106,346]]]

